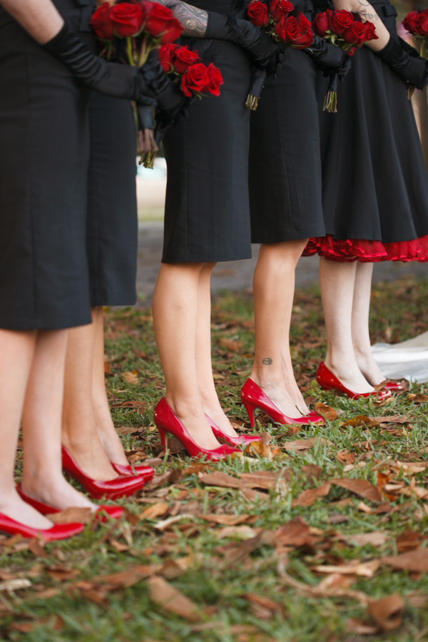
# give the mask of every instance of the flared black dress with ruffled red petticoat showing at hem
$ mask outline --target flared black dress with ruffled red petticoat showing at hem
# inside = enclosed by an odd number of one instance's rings
[[[397,38],[397,11],[373,0]],[[318,77],[326,238],[306,253],[333,260],[428,260],[428,176],[404,81],[366,46],[339,83],[337,113],[322,111]]]

